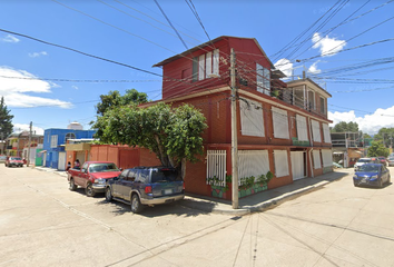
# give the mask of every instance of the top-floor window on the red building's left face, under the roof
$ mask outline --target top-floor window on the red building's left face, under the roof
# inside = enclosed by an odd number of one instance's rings
[[[193,81],[219,75],[219,49],[200,55],[193,59]]]

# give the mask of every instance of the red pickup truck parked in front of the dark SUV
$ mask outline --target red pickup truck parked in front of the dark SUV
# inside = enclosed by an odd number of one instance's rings
[[[87,161],[80,169],[69,169],[67,172],[71,191],[80,186],[88,197],[93,197],[97,192],[104,192],[107,179],[118,177],[121,170],[114,162]]]

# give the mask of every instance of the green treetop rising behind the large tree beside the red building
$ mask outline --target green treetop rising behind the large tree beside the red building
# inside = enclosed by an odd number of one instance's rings
[[[125,96],[121,96],[117,90],[109,91],[108,95],[101,95],[100,99],[101,102],[96,106],[97,113],[100,116],[114,107],[148,102],[148,96],[145,92],[138,92],[136,89],[126,90]]]

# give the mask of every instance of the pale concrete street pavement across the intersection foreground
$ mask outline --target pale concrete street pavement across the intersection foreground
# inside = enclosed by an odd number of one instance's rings
[[[26,167],[1,165],[0,182],[0,266],[394,266],[394,186],[352,176],[243,217],[181,204],[134,215]]]

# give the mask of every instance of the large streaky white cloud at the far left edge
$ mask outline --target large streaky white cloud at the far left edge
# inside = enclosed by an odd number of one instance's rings
[[[39,80],[26,70],[13,70],[9,67],[0,67],[0,96],[4,97],[8,107],[39,107],[57,106],[71,108],[72,103],[59,99],[32,97],[28,92],[51,92],[56,85]]]

